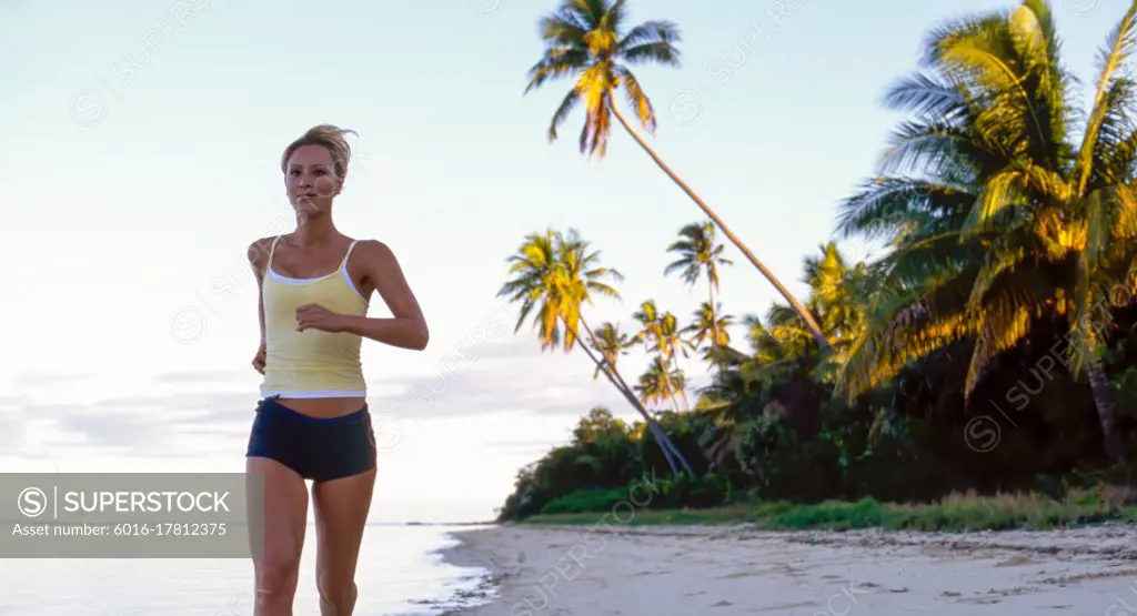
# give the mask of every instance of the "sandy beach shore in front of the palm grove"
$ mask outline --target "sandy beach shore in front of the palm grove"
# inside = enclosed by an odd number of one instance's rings
[[[456,533],[492,572],[471,616],[1137,615],[1137,527],[755,532],[496,526]]]

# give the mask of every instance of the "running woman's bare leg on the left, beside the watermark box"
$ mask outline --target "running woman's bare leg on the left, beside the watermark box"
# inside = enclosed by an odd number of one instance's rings
[[[300,475],[269,458],[247,458],[246,471],[262,474],[265,481],[265,549],[252,559],[252,615],[292,616],[308,516],[307,486]]]

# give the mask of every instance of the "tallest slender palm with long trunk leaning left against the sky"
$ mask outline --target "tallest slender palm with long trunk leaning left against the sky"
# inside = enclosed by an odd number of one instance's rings
[[[557,138],[559,127],[581,101],[587,106],[584,126],[580,133],[580,151],[604,157],[612,134],[612,116],[647,152],[671,180],[719,225],[723,234],[778,289],[786,301],[802,315],[818,343],[825,346],[821,327],[813,315],[738,239],[719,215],[683,182],[624,118],[615,105],[616,91],[623,86],[629,105],[640,126],[655,133],[655,110],[630,65],[654,63],[679,66],[679,28],[671,22],[646,22],[624,31],[626,0],[562,0],[559,8],[540,22],[545,53],[529,70],[525,93],[539,89],[550,78],[571,75],[575,82],[553,115],[549,140]]]

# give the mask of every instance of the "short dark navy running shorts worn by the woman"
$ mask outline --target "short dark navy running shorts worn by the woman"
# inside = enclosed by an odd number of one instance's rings
[[[271,458],[306,480],[332,481],[375,468],[367,406],[341,417],[309,417],[265,398],[257,405],[246,457]]]

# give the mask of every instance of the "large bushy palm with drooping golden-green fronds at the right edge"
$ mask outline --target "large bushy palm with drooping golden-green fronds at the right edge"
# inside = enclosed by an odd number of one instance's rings
[[[869,335],[849,359],[850,396],[961,339],[974,341],[970,396],[993,357],[1039,324],[1065,323],[1070,371],[1088,368],[1105,449],[1120,455],[1096,360],[1111,319],[1089,307],[1134,257],[1137,86],[1124,70],[1135,51],[1130,2],[1077,135],[1048,2],[931,33],[927,70],[887,98],[916,119],[896,132],[881,177],[845,203],[846,233],[890,236],[894,247],[879,266]]]

